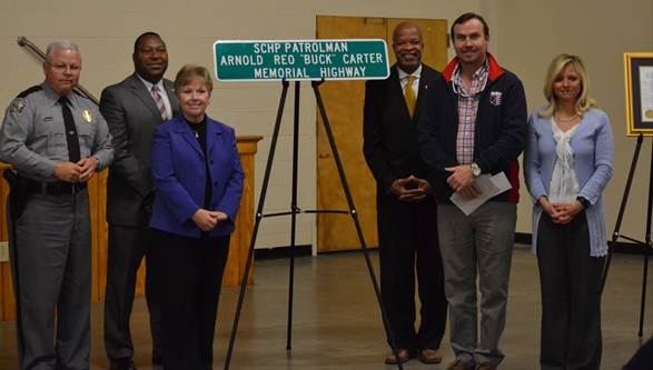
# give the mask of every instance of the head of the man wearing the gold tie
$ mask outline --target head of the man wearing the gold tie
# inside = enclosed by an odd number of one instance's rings
[[[424,40],[417,24],[402,22],[393,30],[393,51],[397,66],[406,73],[413,73],[422,63]]]

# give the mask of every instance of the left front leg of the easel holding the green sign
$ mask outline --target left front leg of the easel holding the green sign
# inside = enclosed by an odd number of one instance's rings
[[[279,108],[277,110],[277,120],[275,122],[275,130],[273,133],[273,141],[270,143],[270,150],[268,153],[268,160],[265,167],[265,176],[263,179],[263,187],[260,188],[260,196],[258,198],[258,207],[256,210],[256,222],[254,223],[254,230],[251,231],[251,241],[249,242],[249,252],[247,253],[247,261],[245,263],[245,273],[240,281],[240,293],[238,294],[238,304],[236,306],[236,314],[234,318],[234,324],[231,327],[231,337],[229,338],[229,348],[227,349],[227,356],[225,358],[225,370],[229,369],[231,362],[231,353],[234,352],[234,343],[236,341],[236,332],[238,331],[238,321],[240,320],[240,310],[243,309],[243,300],[245,299],[245,290],[247,289],[247,278],[249,277],[249,267],[254,259],[254,247],[256,246],[256,237],[258,234],[258,227],[263,219],[263,208],[265,204],[265,197],[267,193],[268,183],[270,180],[270,172],[273,169],[273,160],[275,157],[275,150],[277,148],[277,140],[279,138],[279,128],[281,127],[281,118],[284,116],[284,106],[286,104],[286,96],[288,93],[288,81],[283,81],[281,98],[279,100]]]

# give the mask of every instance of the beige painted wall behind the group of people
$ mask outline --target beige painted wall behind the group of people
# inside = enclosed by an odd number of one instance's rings
[[[409,3],[409,9],[404,4]],[[0,54],[2,81],[0,106],[26,88],[42,80],[40,64],[16,39],[24,36],[44,48],[53,39],[79,43],[83,54],[82,84],[99,97],[103,87],[132,71],[133,39],[146,30],[159,32],[170,53],[168,77],[187,62],[212,68],[211,44],[217,39],[310,39],[315,38],[315,17],[366,16],[447,19],[477,11],[487,17],[491,49],[498,60],[524,81],[532,111],[541,104],[541,81],[554,54],[575,52],[586,59],[594,91],[613,120],[617,149],[615,179],[607,189],[609,230],[614,218],[634,140],[623,138],[624,99],[623,51],[653,50],[651,0],[626,1],[518,1],[518,0],[241,0],[241,1],[105,1],[79,0],[0,2]],[[449,50],[449,54],[452,51]],[[235,127],[238,134],[263,134],[257,157],[256,194],[263,181],[269,137],[280,92],[279,83],[220,83],[216,86],[209,113]],[[301,89],[299,204],[315,207],[315,103],[310,88]],[[290,197],[291,107],[287,102],[283,137],[275,157],[275,169],[266,211],[286,210]],[[631,198],[624,231],[641,233],[645,218],[644,184],[649,173],[647,142]],[[346,166],[346,163],[345,163]],[[523,192],[526,197],[526,192]],[[526,200],[526,198],[524,198]],[[527,201],[520,208],[517,231],[530,232]],[[313,243],[315,219],[299,218],[297,242]],[[258,247],[287,246],[289,220],[263,222]]]

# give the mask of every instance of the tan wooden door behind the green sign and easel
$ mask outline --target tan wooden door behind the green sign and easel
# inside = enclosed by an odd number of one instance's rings
[[[425,43],[422,60],[442,70],[447,61],[446,20],[318,16],[316,31],[319,39],[385,39],[388,44],[389,63],[393,64],[395,56],[392,49],[392,33],[402,21],[410,21],[421,27]],[[365,241],[367,247],[376,248],[378,246],[376,182],[363,157],[365,81],[327,81],[320,87],[320,93]],[[319,112],[317,112],[317,208],[348,210],[347,199]],[[358,248],[360,248],[360,241],[350,217],[335,213],[317,214],[318,253]]]

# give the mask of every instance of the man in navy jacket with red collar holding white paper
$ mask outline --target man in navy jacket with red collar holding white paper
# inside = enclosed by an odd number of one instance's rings
[[[438,200],[451,343],[456,356],[448,369],[493,370],[504,357],[498,341],[505,326],[526,99],[517,77],[487,52],[489,30],[481,16],[458,17],[451,34],[456,58],[426,89],[418,123],[419,150]],[[464,201],[475,200],[482,194],[479,183],[502,172],[512,189],[471,213],[451,202],[454,193]]]

